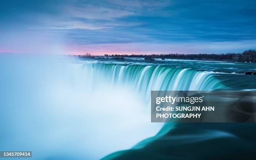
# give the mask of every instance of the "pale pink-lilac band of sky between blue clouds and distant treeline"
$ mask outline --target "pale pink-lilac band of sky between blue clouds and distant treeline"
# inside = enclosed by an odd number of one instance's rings
[[[247,48],[253,48],[256,41],[242,42],[209,42],[209,43],[100,43],[100,44],[73,44],[68,46],[69,54],[91,53],[104,54],[197,54],[197,53],[241,53]],[[242,44],[242,45],[241,45]]]

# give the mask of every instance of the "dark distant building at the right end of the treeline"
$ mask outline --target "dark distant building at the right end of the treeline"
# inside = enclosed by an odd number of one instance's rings
[[[248,50],[244,51],[242,54],[234,54],[232,59],[238,62],[253,62],[256,63],[256,51]]]

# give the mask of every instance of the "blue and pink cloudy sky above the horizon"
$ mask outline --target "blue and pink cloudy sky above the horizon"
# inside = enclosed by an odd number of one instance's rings
[[[0,53],[241,53],[255,0],[0,0]]]

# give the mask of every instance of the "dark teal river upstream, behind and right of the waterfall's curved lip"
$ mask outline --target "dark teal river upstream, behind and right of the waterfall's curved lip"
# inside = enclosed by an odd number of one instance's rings
[[[188,69],[189,71],[202,71],[211,74],[228,89],[242,90],[255,89],[256,76],[244,75],[247,71],[256,71],[256,63],[237,63],[229,61],[196,61],[183,59],[156,58],[155,61],[144,61],[144,58],[125,58],[125,61],[116,61],[110,57],[98,59],[81,58],[86,63],[104,63],[119,65],[165,66],[169,69]],[[200,73],[202,73],[200,72]],[[188,77],[187,79],[190,79]],[[197,87],[196,85],[193,85]],[[170,88],[169,88],[170,89]]]

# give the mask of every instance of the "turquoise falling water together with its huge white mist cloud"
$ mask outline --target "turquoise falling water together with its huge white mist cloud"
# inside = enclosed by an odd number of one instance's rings
[[[33,150],[34,159],[99,159],[129,149],[163,125],[150,122],[151,90],[225,87],[208,72],[168,66],[7,60],[0,150]]]

